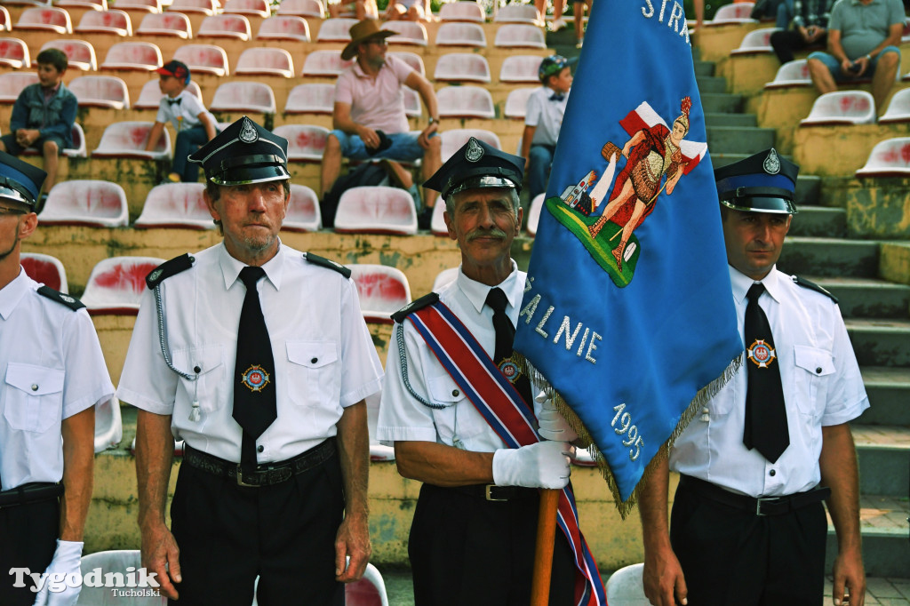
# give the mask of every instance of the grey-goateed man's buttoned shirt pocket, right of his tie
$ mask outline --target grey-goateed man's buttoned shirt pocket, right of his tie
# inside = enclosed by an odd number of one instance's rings
[[[335,341],[288,341],[288,396],[298,406],[337,405],[340,369]]]

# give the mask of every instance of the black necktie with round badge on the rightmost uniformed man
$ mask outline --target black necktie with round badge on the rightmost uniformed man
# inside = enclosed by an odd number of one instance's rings
[[[757,449],[773,463],[790,445],[790,433],[771,326],[758,305],[763,292],[764,285],[759,282],[746,293],[749,299],[745,308],[749,387],[745,396],[743,444],[747,449]]]

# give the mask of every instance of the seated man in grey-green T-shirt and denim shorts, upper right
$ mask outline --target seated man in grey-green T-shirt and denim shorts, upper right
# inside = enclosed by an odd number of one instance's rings
[[[828,23],[828,52],[809,56],[809,75],[819,93],[837,83],[872,77],[875,106],[883,107],[901,63],[904,5],[901,0],[837,0]]]

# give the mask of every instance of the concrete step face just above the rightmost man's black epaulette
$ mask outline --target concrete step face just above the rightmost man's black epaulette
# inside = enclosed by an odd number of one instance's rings
[[[787,237],[779,267],[797,276],[875,278],[878,249],[875,241]]]

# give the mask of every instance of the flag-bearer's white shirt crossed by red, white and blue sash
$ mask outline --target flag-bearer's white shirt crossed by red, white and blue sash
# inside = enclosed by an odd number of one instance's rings
[[[493,329],[493,310],[485,305],[490,288],[501,288],[509,299],[506,313],[517,325],[521,311],[521,297],[527,274],[519,271],[512,261],[512,272],[498,287],[476,282],[459,269],[458,278],[440,289],[440,301],[445,303],[467,327],[480,347],[490,356],[496,348],[496,331]],[[394,340],[396,326],[386,360],[386,379],[379,403],[377,438],[387,446],[395,441],[438,442],[454,446],[459,439],[464,449],[473,452],[492,452],[506,448],[502,439],[490,429],[470,400],[442,368],[426,341],[410,321],[404,323],[405,351],[408,359],[410,386],[433,404],[443,409],[431,409],[410,395],[401,379],[401,360]],[[531,393],[536,393],[531,389]],[[458,395],[453,395],[458,394]],[[534,412],[540,413],[541,405],[534,403]]]

